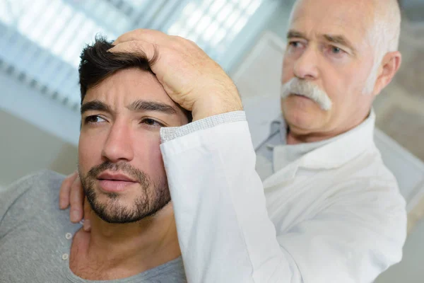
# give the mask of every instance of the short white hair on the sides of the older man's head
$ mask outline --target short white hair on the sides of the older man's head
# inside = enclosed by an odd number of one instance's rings
[[[290,14],[289,22],[293,18],[295,6],[302,0],[296,0]],[[364,11],[364,16],[370,18],[371,28],[368,30],[367,40],[374,51],[374,64],[368,77],[364,94],[372,93],[375,81],[377,81],[378,69],[387,52],[397,51],[399,48],[399,35],[401,33],[401,11],[398,0],[344,0],[355,1],[359,7],[361,4],[370,4],[370,10]],[[366,16],[365,16],[366,17]]]

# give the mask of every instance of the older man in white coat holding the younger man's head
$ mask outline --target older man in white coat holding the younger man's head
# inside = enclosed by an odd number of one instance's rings
[[[401,260],[405,202],[372,134],[372,101],[401,64],[400,21],[394,0],[297,1],[280,134],[256,155],[235,86],[192,42],[119,37],[114,51],[159,48],[153,72],[193,113],[161,129],[189,282],[372,282]]]

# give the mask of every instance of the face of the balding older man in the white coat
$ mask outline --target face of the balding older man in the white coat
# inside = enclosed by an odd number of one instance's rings
[[[304,0],[295,6],[282,83],[307,82],[326,93],[332,106],[328,108],[329,100],[319,105],[293,91],[285,93],[281,105],[290,129],[303,134],[336,133],[369,110],[373,96],[363,95],[363,89],[374,52],[368,40],[372,6],[367,2]]]

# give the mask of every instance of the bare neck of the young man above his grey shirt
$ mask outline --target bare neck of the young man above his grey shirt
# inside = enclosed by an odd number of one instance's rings
[[[76,258],[90,262],[93,269],[104,272],[101,278],[85,275],[85,279],[129,277],[181,255],[172,204],[155,216],[136,223],[109,224],[94,213],[90,222],[91,232],[81,230],[74,238],[73,244],[78,245]],[[107,272],[116,276],[107,276]]]

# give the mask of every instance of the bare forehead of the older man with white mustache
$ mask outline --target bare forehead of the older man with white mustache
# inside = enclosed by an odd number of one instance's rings
[[[358,47],[367,42],[372,28],[372,0],[298,0],[289,29],[308,37],[343,35]]]

